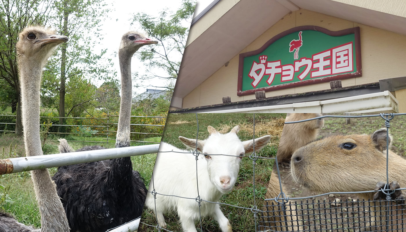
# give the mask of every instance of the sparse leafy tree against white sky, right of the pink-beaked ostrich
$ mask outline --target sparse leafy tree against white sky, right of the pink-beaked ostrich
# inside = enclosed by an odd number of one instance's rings
[[[151,37],[160,41],[158,46],[147,47],[138,52],[141,61],[148,67],[147,74],[140,76],[137,74],[139,79],[176,80],[195,5],[196,1],[183,0],[176,13],[170,15],[166,9],[160,12],[159,17],[152,17],[145,13],[138,13],[134,16],[133,23],[138,22]],[[159,73],[164,73],[164,75]],[[171,84],[154,87],[165,87],[170,91],[173,90]]]

